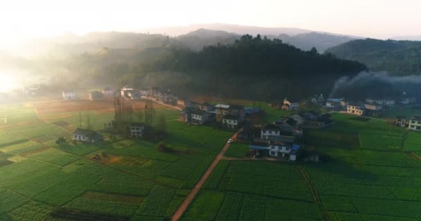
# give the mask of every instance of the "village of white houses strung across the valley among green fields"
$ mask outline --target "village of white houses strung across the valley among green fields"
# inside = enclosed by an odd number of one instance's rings
[[[76,99],[74,91],[63,91],[63,99]],[[378,99],[368,97],[364,102],[348,101],[343,98],[327,98],[314,95],[305,100],[283,99],[282,102],[267,102],[267,106],[283,111],[289,111],[287,117],[279,117],[270,124],[262,123],[259,119],[265,111],[259,106],[242,106],[238,104],[210,104],[208,102],[194,102],[190,99],[179,98],[170,90],[158,87],[134,89],[123,87],[113,90],[109,87],[101,91],[89,93],[90,100],[104,99],[104,97],[118,97],[118,99],[148,101],[177,108],[181,111],[180,122],[200,126],[211,125],[228,131],[238,131],[233,139],[227,142],[242,142],[249,144],[248,155],[258,159],[260,157],[275,157],[278,160],[296,161],[303,156],[305,161],[319,161],[319,155],[314,151],[304,153],[303,130],[305,128],[321,129],[332,124],[332,113],[346,113],[361,117],[381,117],[393,106],[408,106],[415,104],[415,97],[402,93],[402,98]],[[115,98],[114,98],[115,99]],[[311,110],[307,108],[310,106]],[[411,131],[421,131],[421,117],[396,116],[395,125],[408,128]],[[132,138],[143,138],[152,133],[152,126],[143,122],[131,122],[126,125],[127,135]],[[156,137],[156,131],[153,132]],[[158,137],[165,137],[159,131]],[[85,128],[78,128],[73,133],[76,142],[98,142],[102,138],[99,133]],[[298,156],[298,157],[297,157]]]

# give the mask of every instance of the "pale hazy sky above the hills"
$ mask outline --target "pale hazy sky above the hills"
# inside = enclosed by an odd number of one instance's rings
[[[420,0],[0,0],[0,39],[191,23],[294,27],[387,38],[421,35]]]

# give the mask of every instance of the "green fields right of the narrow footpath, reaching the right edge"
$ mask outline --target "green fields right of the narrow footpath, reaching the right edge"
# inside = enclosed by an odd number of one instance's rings
[[[305,165],[331,220],[420,220],[421,134],[381,119],[334,114],[334,126],[305,134],[325,156]],[[319,137],[319,139],[315,139]]]

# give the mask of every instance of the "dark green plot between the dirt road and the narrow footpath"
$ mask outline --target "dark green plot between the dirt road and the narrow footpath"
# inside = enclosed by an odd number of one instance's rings
[[[321,217],[296,166],[222,160],[183,220],[321,220]]]

